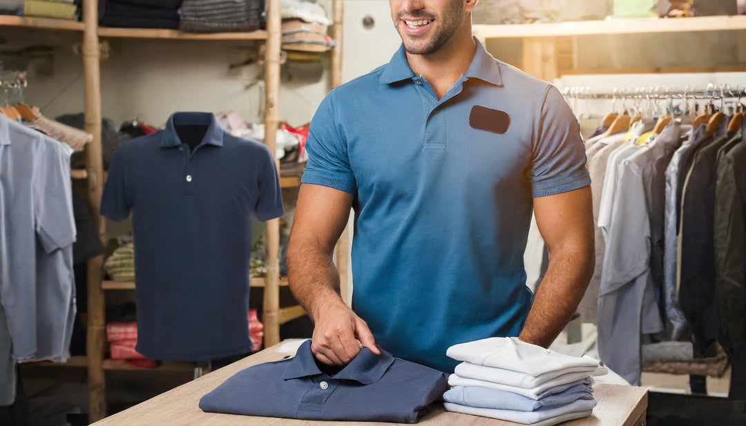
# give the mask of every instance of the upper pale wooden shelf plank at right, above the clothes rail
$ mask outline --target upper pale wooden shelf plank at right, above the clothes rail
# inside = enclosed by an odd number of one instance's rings
[[[746,16],[699,16],[679,19],[612,19],[608,21],[541,24],[474,25],[480,39],[509,37],[570,37],[598,34],[650,34],[686,31],[746,30]]]

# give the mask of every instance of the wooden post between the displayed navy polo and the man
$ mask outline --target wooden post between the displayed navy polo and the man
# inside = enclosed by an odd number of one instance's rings
[[[278,101],[280,97],[280,0],[267,2],[267,41],[264,62],[264,87],[266,108],[264,110],[264,143],[275,154],[278,129]],[[280,172],[280,163],[275,160]],[[264,286],[262,321],[264,322],[264,346],[280,342],[280,219],[267,222],[267,268]]]

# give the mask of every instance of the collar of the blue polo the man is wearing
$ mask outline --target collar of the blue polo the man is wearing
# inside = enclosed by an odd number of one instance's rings
[[[474,43],[477,43],[477,50],[474,52],[474,59],[471,60],[471,65],[466,70],[464,77],[479,78],[487,83],[495,84],[495,86],[502,86],[503,79],[498,61],[486,51],[477,37],[474,37]],[[407,62],[407,54],[402,43],[399,50],[386,65],[386,69],[383,70],[378,81],[381,84],[391,84],[414,76],[415,73]]]

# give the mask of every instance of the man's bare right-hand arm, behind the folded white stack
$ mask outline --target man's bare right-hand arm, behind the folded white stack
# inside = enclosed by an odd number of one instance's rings
[[[549,266],[519,339],[548,347],[568,324],[595,265],[590,187],[533,199]]]

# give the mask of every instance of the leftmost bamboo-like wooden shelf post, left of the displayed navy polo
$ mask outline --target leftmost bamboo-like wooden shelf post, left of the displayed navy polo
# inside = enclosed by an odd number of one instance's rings
[[[98,215],[104,184],[103,160],[101,160],[101,48],[98,44],[98,1],[84,0],[83,22],[83,72],[85,75],[86,131],[93,135],[93,142],[86,146],[86,169],[88,173],[88,201],[96,222],[98,237],[105,240],[106,223]],[[104,290],[101,288],[104,256],[94,257],[88,262],[88,419],[96,422],[106,416],[104,392]]]

